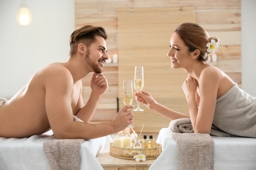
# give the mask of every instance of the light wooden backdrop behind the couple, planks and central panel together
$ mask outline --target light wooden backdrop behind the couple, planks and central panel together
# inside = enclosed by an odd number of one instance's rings
[[[187,8],[194,9],[195,22],[202,25],[208,31],[209,35],[217,36],[221,40],[221,46],[217,51],[218,61],[213,64],[221,68],[235,82],[242,86],[240,0],[75,0],[75,28],[89,24],[104,27],[108,33],[108,54],[112,56],[116,53],[119,58],[118,64],[111,63],[104,68],[104,75],[108,78],[110,87],[100,101],[93,122],[112,120],[112,117],[117,111],[117,97],[119,97],[119,107],[122,106],[120,95],[123,85],[122,81],[126,78],[133,79],[133,69],[137,63],[143,63],[144,65],[146,81],[144,90],[152,93],[152,95],[156,95],[155,98],[163,105],[172,109],[180,109],[187,113],[184,95],[179,91],[181,90],[181,84],[185,75],[182,75],[182,70],[171,69],[166,53],[169,38],[171,33],[173,33],[173,26],[175,26],[171,23],[175,21],[183,22],[184,20],[188,20],[190,16],[182,18],[181,13],[177,10],[176,14],[167,14],[167,16],[163,17],[163,20],[159,20],[158,25],[148,25],[148,29],[142,27],[142,23],[144,24],[146,21],[150,24],[150,20],[154,19],[154,14],[156,14],[156,17],[160,15],[160,13],[156,12],[148,16],[146,14],[148,10],[163,10],[168,8],[176,8],[181,11]],[[145,11],[144,14],[142,9]],[[125,25],[129,25],[129,22],[133,22],[133,24],[136,24],[136,22],[138,24],[139,22],[136,20],[137,18],[134,18],[134,20],[125,18],[125,11],[130,14],[137,14],[140,11],[140,16],[142,18],[144,17],[144,20],[140,20],[140,25],[127,27],[125,31]],[[170,25],[166,24],[164,22],[165,20],[169,20]],[[163,21],[163,24],[161,24],[161,21]],[[119,24],[123,24],[123,27]],[[156,31],[157,26],[162,29],[161,36],[154,37],[152,35],[152,37],[147,37],[147,34],[150,35],[148,31]],[[136,39],[121,37],[123,36],[121,33],[141,33],[141,29],[145,30],[144,37],[139,35]],[[132,46],[128,44],[129,41],[136,42],[136,45]],[[125,45],[126,42],[127,45]],[[138,45],[139,42],[143,43]],[[127,49],[121,50],[121,48]],[[131,55],[125,56],[125,50]],[[138,50],[141,50],[140,53],[135,53]],[[137,58],[134,54],[138,54],[141,58]],[[154,58],[145,59],[145,56],[150,56],[149,54],[154,56]],[[162,60],[159,60],[160,58]],[[161,74],[160,70],[165,71],[165,74]],[[156,73],[156,75],[153,75],[152,72]],[[91,75],[83,78],[83,97],[85,102],[90,93],[90,78]],[[156,78],[160,78],[161,80],[157,82]],[[165,83],[165,79],[168,79],[169,82]],[[144,106],[142,107],[146,110]],[[139,114],[142,115],[138,116]],[[142,124],[145,124],[144,132],[158,132],[161,127],[168,126],[169,120],[148,110],[144,113],[135,112],[135,123],[133,124],[135,131],[139,131]]]

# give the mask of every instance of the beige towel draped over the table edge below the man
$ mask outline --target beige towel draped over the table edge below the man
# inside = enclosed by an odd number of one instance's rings
[[[76,116],[74,121],[83,122]],[[84,139],[56,139],[54,134],[45,140],[43,150],[53,170],[80,169],[80,148]]]

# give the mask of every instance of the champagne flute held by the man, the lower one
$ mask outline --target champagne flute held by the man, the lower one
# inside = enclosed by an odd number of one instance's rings
[[[123,80],[123,104],[133,105],[133,80]],[[132,125],[128,127],[133,131]]]

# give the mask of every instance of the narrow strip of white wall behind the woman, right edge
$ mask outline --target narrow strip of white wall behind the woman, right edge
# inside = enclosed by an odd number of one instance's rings
[[[255,0],[242,0],[242,88],[256,97],[255,9]]]

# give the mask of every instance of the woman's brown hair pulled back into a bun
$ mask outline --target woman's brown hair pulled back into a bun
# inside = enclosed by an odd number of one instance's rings
[[[200,55],[198,56],[198,61],[200,62],[207,61],[209,58],[208,54],[210,53],[207,52],[207,42],[211,42],[213,39],[217,44],[219,43],[219,38],[209,37],[203,27],[190,22],[179,25],[175,29],[175,33],[179,34],[190,52],[194,52],[196,49],[200,50]]]

